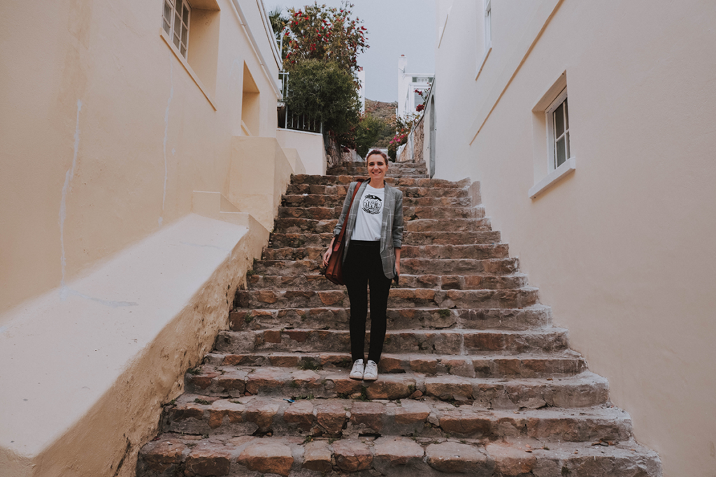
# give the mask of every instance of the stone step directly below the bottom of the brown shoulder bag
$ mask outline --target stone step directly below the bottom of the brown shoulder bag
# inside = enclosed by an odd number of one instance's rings
[[[238,290],[237,308],[322,308],[349,307],[345,290]],[[517,290],[432,290],[392,288],[389,308],[525,308],[537,303],[537,289]]]

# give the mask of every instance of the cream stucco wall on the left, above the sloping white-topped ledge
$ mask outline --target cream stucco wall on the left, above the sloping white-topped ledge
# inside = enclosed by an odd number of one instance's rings
[[[261,20],[256,1],[238,4]],[[202,90],[160,35],[160,0],[2,2],[0,312],[178,220],[193,190],[228,195],[244,64],[259,135],[276,136],[263,24],[265,69],[236,6],[218,6],[216,84]]]

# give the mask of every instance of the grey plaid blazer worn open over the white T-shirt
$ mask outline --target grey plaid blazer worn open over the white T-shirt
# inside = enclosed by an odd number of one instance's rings
[[[363,195],[368,182],[369,181],[364,181],[360,185],[356,195],[358,200],[360,200],[360,197]],[[348,186],[348,193],[343,201],[341,217],[338,219],[338,223],[333,230],[333,235],[338,235],[341,232],[343,221],[345,220],[346,212],[357,184],[358,182],[351,182]],[[395,278],[395,249],[402,246],[402,191],[386,183],[384,199],[385,204],[383,205],[383,220],[380,226],[380,261],[383,264],[383,273],[385,276],[388,278]],[[348,215],[348,223],[346,225],[346,247],[343,250],[344,261],[346,260],[348,247],[351,243],[351,235],[353,235],[357,217],[358,207],[351,207],[351,212]]]

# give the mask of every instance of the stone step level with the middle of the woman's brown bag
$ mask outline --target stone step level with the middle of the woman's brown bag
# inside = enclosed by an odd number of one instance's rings
[[[315,260],[258,260],[252,272],[258,275],[315,275],[321,272],[321,259]],[[516,258],[458,260],[436,258],[401,258],[400,272],[410,275],[511,275],[518,270]]]

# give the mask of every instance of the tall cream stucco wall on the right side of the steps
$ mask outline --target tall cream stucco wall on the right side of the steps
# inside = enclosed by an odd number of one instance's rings
[[[716,4],[493,1],[482,64],[480,2],[449,3],[435,177],[481,182],[665,475],[716,476]],[[540,100],[563,73],[576,170],[531,199],[548,173]]]

